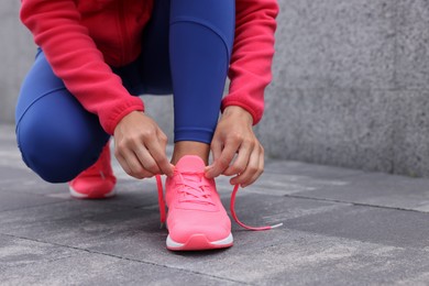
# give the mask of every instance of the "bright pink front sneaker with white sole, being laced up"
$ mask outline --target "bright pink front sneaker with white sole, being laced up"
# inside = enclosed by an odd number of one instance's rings
[[[205,177],[198,156],[184,156],[166,180],[167,249],[191,251],[229,248],[233,244],[231,221],[216,190]]]

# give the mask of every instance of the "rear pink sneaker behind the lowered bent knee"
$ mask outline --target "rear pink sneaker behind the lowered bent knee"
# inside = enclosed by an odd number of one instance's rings
[[[114,196],[116,184],[107,144],[98,161],[68,183],[68,189],[74,198],[102,199]]]

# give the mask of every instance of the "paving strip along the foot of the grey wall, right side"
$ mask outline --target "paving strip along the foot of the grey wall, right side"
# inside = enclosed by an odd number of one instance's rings
[[[248,191],[429,212],[427,178],[274,161]]]

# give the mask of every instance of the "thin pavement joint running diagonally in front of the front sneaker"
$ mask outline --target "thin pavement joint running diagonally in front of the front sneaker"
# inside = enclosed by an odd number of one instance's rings
[[[92,250],[82,249],[82,248],[78,248],[78,246],[65,245],[65,244],[55,243],[55,242],[47,242],[47,241],[37,240],[37,239],[30,239],[30,238],[19,237],[19,235],[14,235],[14,234],[9,234],[9,233],[0,233],[0,234],[4,235],[4,237],[13,238],[13,239],[20,239],[20,240],[25,240],[25,241],[31,241],[31,242],[37,242],[37,243],[48,244],[48,245],[58,246],[58,248],[72,249],[72,250],[76,250],[76,251],[87,252],[87,253],[90,253],[90,254],[98,254],[98,255],[109,256],[109,257],[119,258],[119,260],[123,260],[123,261],[138,262],[138,263],[152,265],[152,266],[156,266],[156,267],[164,267],[164,268],[168,268],[168,270],[176,270],[176,271],[180,271],[180,272],[186,272],[186,273],[190,273],[190,274],[197,274],[197,275],[205,276],[205,277],[210,277],[210,278],[216,278],[216,279],[226,280],[226,282],[232,282],[232,283],[238,283],[238,284],[242,284],[242,285],[255,285],[255,284],[250,284],[250,283],[241,282],[241,280],[234,280],[234,279],[226,278],[226,277],[219,277],[219,276],[216,276],[216,275],[210,275],[210,274],[206,274],[206,273],[201,273],[201,272],[197,272],[197,271],[179,268],[179,267],[172,267],[172,266],[168,266],[168,265],[165,265],[165,264],[163,265],[163,264],[157,264],[155,262],[124,257],[124,256],[120,256],[120,255],[116,255],[116,254],[111,254],[111,253],[92,251]],[[70,255],[70,256],[67,256],[67,257],[62,257],[62,258],[58,258],[57,261],[69,258],[69,257],[74,257],[74,255]]]

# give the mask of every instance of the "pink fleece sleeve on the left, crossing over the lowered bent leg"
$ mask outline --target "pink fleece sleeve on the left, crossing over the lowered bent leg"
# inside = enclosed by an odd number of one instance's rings
[[[54,74],[86,110],[99,117],[106,132],[112,134],[131,111],[144,110],[142,100],[131,96],[105,63],[88,30],[80,24],[75,1],[22,0],[20,16]]]

